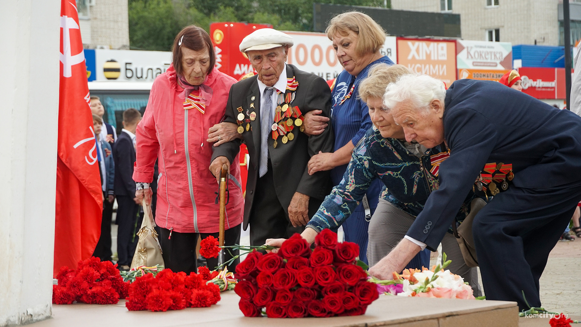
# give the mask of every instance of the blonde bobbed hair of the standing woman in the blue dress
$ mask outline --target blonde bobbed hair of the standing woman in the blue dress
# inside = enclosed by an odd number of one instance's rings
[[[385,31],[370,16],[364,13],[352,11],[340,13],[333,17],[327,26],[327,37],[333,40],[333,36],[349,34],[353,31],[358,35],[357,48],[358,55],[375,53],[385,43]]]

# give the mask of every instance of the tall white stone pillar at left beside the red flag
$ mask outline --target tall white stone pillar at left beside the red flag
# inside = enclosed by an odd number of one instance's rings
[[[51,316],[60,0],[0,1],[0,326]]]

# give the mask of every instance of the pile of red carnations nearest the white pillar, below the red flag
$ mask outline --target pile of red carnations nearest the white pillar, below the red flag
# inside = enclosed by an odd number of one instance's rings
[[[128,294],[129,283],[123,281],[117,265],[95,257],[79,261],[77,270],[63,266],[56,279],[58,285],[52,286],[54,304],[116,304]]]

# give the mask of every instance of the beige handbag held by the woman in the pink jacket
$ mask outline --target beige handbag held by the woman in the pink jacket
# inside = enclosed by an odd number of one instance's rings
[[[137,268],[139,266],[151,267],[155,265],[164,266],[162,247],[159,245],[159,240],[157,240],[151,206],[145,204],[145,197],[141,201],[141,204],[144,207],[144,220],[141,223],[141,229],[137,232],[139,241],[137,241],[137,248],[135,248],[133,261],[131,261],[131,268]]]

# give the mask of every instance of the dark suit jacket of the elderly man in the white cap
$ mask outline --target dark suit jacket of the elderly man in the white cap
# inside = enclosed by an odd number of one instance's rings
[[[331,113],[331,90],[327,82],[315,74],[303,72],[293,65],[286,65],[286,77],[295,76],[299,86],[296,89],[295,101],[292,106],[299,106],[303,113],[311,110],[322,110],[322,115],[329,117]],[[252,100],[254,97],[254,100]],[[256,112],[256,119],[250,122],[251,130],[242,133],[243,141],[248,146],[250,155],[250,166],[248,167],[248,180],[246,182],[246,198],[244,205],[244,229],[248,226],[252,202],[254,200],[254,189],[258,178],[258,166],[260,162],[260,90],[257,76],[239,81],[232,85],[226,104],[225,122],[236,123],[238,110],[242,106],[243,112]],[[254,108],[250,108],[250,104]],[[243,124],[246,127],[246,123]],[[333,151],[333,132],[331,128],[317,136],[307,136],[299,131],[298,127],[293,130],[295,138],[282,144],[281,137],[278,137],[277,147],[272,147],[274,140],[268,139],[268,152],[272,163],[272,174],[275,180],[275,189],[278,200],[288,215],[288,206],[295,192],[306,194],[311,198],[324,199],[331,190],[329,172],[317,172],[312,176],[308,173],[307,162],[319,151]],[[230,162],[234,160],[240,151],[241,141],[236,139],[229,143],[214,147],[212,161],[216,157],[227,157]]]

